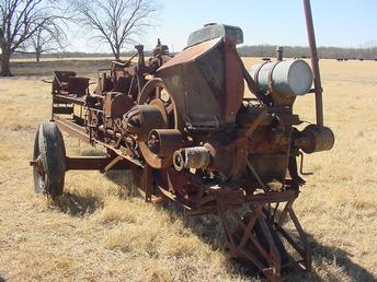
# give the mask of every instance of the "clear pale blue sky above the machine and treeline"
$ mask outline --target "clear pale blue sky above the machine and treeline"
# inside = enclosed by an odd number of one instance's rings
[[[157,38],[181,50],[191,32],[205,23],[240,26],[245,45],[307,45],[301,0],[160,0],[158,24],[140,43],[147,49]],[[311,0],[318,46],[361,47],[377,45],[377,0]],[[71,50],[110,51],[79,32]]]

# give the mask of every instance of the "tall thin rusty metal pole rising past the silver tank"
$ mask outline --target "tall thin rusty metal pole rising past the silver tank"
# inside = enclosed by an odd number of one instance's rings
[[[322,84],[321,84],[321,75],[319,72],[316,35],[315,35],[315,27],[313,27],[312,16],[311,16],[310,0],[302,0],[302,2],[304,2],[304,11],[305,11],[305,19],[306,19],[308,40],[309,40],[311,68],[312,68],[312,73],[313,73],[317,125],[322,127],[323,126]]]

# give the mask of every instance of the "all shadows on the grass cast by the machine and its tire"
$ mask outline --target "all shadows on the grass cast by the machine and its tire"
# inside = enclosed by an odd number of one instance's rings
[[[135,183],[130,172],[114,171],[106,174],[107,179],[118,186],[118,197],[135,197]],[[96,209],[103,208],[102,199],[92,196],[79,196],[75,193],[64,193],[55,199],[55,204],[62,211],[71,215],[81,216],[93,213]],[[188,216],[183,209],[174,203],[165,201],[162,207],[171,216],[172,221],[183,220],[183,223],[205,244],[214,250],[225,251],[225,234],[219,218],[214,215]],[[294,271],[289,281],[339,281],[340,277],[346,277],[351,281],[377,281],[372,272],[364,267],[352,261],[352,255],[338,248],[336,246],[325,246],[317,242],[313,235],[307,235],[312,249],[313,270],[311,272]],[[255,280],[256,275],[250,275],[248,269],[231,263],[229,260],[229,272],[237,271],[240,274]],[[1,280],[0,280],[1,282]]]

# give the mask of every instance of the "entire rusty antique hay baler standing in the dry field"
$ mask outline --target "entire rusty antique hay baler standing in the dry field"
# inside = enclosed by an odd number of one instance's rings
[[[283,60],[278,49],[276,61],[248,71],[236,49],[242,31],[208,24],[174,57],[160,40],[148,60],[136,46],[132,59],[99,70],[93,93],[89,79],[55,71],[52,120],[39,125],[31,162],[35,191],[61,195],[71,169],[132,169],[147,202],[218,214],[230,256],[271,281],[294,267],[309,271],[310,248],[293,209],[305,184],[296,158],[330,150],[334,136],[323,126],[309,0],[304,7],[311,69]],[[316,94],[317,124],[298,130],[293,105],[307,93]],[[104,146],[106,156],[67,156],[60,130]]]

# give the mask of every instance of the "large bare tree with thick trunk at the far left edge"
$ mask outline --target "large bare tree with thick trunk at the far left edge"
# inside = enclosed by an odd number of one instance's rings
[[[10,58],[38,31],[56,19],[53,0],[0,0],[0,49],[2,77],[10,77]]]

